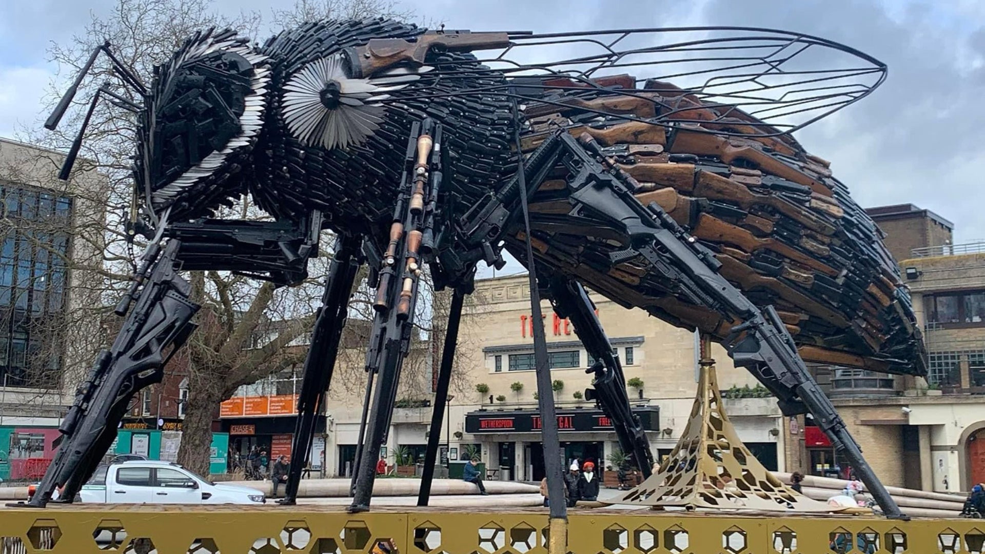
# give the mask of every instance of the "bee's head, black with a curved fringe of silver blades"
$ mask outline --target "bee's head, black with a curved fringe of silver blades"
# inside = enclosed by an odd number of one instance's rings
[[[136,178],[147,204],[198,217],[238,196],[269,82],[267,57],[247,38],[209,31],[186,40],[159,67],[139,122]]]

